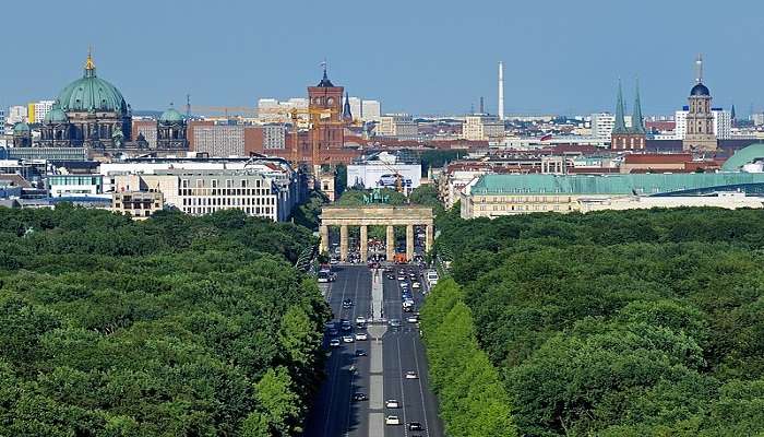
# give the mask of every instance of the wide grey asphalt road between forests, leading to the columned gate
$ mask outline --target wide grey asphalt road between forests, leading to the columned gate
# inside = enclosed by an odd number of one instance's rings
[[[353,333],[366,332],[355,327],[357,316],[369,317],[371,314],[372,271],[363,265],[336,265],[337,279],[326,288],[326,299],[335,315],[335,320],[346,319],[354,323]],[[415,271],[414,267],[406,268]],[[395,273],[399,269],[395,269]],[[382,272],[379,272],[382,275]],[[427,359],[425,347],[419,338],[416,323],[407,323],[401,306],[401,284],[384,275],[383,299],[386,319],[401,320],[399,328],[387,328],[381,343],[373,338],[367,341],[342,343],[332,347],[326,364],[326,380],[314,403],[306,424],[309,437],[373,437],[373,436],[442,436],[442,423],[438,417],[438,403],[428,388]],[[410,283],[410,281],[407,281]],[[343,308],[343,300],[351,299],[350,308]],[[421,305],[422,294],[414,292],[416,306]],[[381,327],[370,327],[380,330]],[[330,339],[342,336],[326,335]],[[368,356],[356,357],[356,351],[363,350]],[[381,358],[380,359],[380,353]],[[372,371],[371,363],[380,359]],[[351,366],[356,371],[351,371]],[[381,370],[381,371],[380,371]],[[417,379],[406,379],[408,370],[417,373]],[[372,387],[373,383],[373,387]],[[354,402],[354,393],[365,393],[370,401]],[[382,400],[395,399],[399,409],[385,409]],[[370,424],[370,413],[373,425]],[[383,415],[394,414],[401,417],[402,425],[381,425]],[[425,429],[408,430],[408,423],[419,422]],[[404,425],[405,423],[405,425]]]

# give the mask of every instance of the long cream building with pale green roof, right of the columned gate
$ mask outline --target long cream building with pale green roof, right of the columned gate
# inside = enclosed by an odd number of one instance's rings
[[[463,218],[605,209],[762,208],[764,174],[485,175],[470,182],[459,200]]]

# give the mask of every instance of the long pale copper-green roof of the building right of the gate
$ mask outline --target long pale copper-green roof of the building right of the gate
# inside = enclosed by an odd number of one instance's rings
[[[624,175],[485,175],[473,186],[473,194],[640,194],[667,196],[687,191],[729,191],[740,188],[752,192],[751,184],[764,190],[764,174],[689,173]]]

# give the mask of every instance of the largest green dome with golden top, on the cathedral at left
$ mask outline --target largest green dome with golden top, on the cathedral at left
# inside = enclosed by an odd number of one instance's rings
[[[96,76],[95,64],[88,56],[85,74],[70,83],[58,95],[59,107],[64,111],[112,111],[127,114],[128,104],[122,93],[109,82]]]

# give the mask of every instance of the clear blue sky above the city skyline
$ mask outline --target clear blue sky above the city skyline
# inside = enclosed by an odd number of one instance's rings
[[[34,7],[31,7],[34,4]],[[631,110],[672,114],[705,63],[714,106],[764,109],[764,2],[580,1],[13,1],[3,4],[0,106],[55,98],[97,73],[133,109],[249,106],[302,97],[329,75],[383,113],[458,115],[485,96],[497,113],[612,111],[619,78]]]

